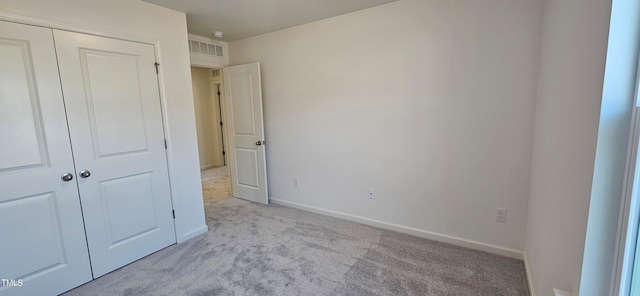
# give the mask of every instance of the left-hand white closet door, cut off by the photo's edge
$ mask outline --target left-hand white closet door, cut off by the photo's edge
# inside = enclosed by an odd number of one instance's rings
[[[91,280],[76,179],[65,173],[74,167],[52,31],[0,22],[0,278],[15,280],[0,295]]]

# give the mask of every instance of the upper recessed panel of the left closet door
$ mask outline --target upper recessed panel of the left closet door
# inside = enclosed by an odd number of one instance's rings
[[[0,37],[0,171],[46,165],[28,40]]]

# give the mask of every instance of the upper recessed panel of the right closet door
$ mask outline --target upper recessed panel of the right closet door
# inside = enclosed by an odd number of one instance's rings
[[[96,156],[146,151],[138,57],[82,49],[80,61]]]

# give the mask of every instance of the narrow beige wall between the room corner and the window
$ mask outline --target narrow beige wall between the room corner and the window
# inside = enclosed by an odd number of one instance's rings
[[[547,0],[544,11],[525,251],[537,295],[577,295],[611,1]]]

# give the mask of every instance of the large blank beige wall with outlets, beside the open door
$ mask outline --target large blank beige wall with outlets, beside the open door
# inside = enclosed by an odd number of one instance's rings
[[[541,21],[401,0],[231,42],[261,63],[269,196],[523,250]]]

